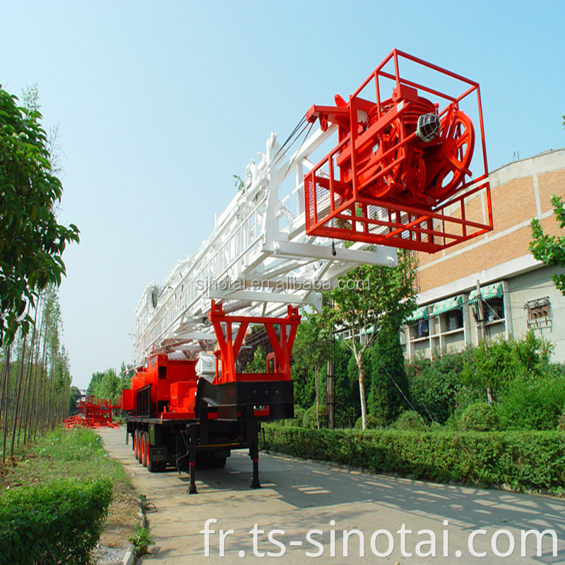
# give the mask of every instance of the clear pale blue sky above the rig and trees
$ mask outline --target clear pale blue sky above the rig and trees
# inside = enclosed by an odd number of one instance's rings
[[[489,169],[565,146],[563,1],[0,0],[0,20],[0,83],[37,83],[59,124],[81,388],[130,361],[145,285],[208,237],[270,131],[347,98],[393,48],[480,83]]]

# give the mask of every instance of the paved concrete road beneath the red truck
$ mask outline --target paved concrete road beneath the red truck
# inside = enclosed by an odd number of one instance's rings
[[[137,491],[157,506],[148,515],[156,545],[144,565],[565,563],[561,499],[372,475],[265,453],[259,458],[263,488],[250,489],[251,460],[242,451],[232,453],[225,469],[199,469],[198,494],[189,495],[186,473],[149,473],[137,463],[124,443],[124,429],[100,435]],[[206,536],[201,531],[210,519],[216,520],[208,526],[214,533]],[[547,529],[556,533],[558,556],[552,556],[552,537],[546,534],[542,557],[536,557],[533,535],[522,557],[521,531]],[[486,552],[484,557],[470,552],[473,530],[484,530],[475,533],[471,545],[477,554]],[[505,554],[511,540],[509,557],[496,557],[492,546]]]

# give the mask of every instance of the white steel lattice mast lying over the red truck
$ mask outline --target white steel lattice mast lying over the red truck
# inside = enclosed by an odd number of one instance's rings
[[[216,216],[201,249],[177,261],[164,283],[145,288],[136,309],[136,364],[156,352],[189,354],[210,347],[211,299],[226,312],[280,316],[287,304],[319,309],[318,291],[356,266],[396,266],[396,249],[363,243],[346,249],[344,242],[305,232],[304,172],[314,168],[325,145],[333,146],[334,132],[335,126],[307,131],[293,153],[297,136],[281,146],[271,133],[266,153],[246,167],[242,190]]]

